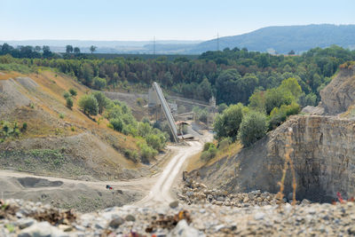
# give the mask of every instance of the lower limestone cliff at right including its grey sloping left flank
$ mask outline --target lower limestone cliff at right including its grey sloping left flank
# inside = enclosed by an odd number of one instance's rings
[[[330,201],[336,192],[355,195],[355,121],[330,116],[294,116],[254,146],[198,172],[209,186],[230,193],[276,193],[287,144],[293,149],[298,199]],[[287,195],[292,192],[290,170],[285,185]]]

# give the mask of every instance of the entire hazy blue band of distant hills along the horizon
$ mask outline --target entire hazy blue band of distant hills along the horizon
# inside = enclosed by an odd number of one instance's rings
[[[236,27],[237,28],[237,27]],[[51,51],[64,52],[66,45],[79,47],[81,52],[90,52],[90,46],[97,46],[96,53],[127,54],[201,54],[205,51],[217,51],[235,47],[247,48],[248,51],[268,51],[271,53],[300,53],[320,47],[336,44],[345,49],[355,50],[355,25],[335,26],[330,24],[308,26],[286,26],[260,28],[248,34],[226,36],[201,41],[80,41],[80,40],[27,40],[1,41],[15,48],[19,45],[48,45]],[[154,50],[155,49],[155,50]]]

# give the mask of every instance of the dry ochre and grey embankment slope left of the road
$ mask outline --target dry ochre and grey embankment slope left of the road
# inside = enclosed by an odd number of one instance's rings
[[[152,170],[124,154],[138,151],[137,140],[83,115],[78,99],[90,90],[67,75],[51,71],[8,76],[0,80],[0,122],[27,123],[19,137],[0,143],[0,169],[30,171],[58,177],[128,179]],[[63,93],[77,91],[74,107],[66,107]]]

